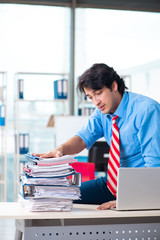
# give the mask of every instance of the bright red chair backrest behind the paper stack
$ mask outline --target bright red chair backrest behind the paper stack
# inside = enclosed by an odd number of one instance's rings
[[[81,173],[82,182],[95,179],[95,163],[75,162],[70,165],[76,172]]]

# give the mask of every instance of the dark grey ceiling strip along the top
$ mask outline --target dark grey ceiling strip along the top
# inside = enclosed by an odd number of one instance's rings
[[[160,0],[0,0],[0,3],[160,12]]]

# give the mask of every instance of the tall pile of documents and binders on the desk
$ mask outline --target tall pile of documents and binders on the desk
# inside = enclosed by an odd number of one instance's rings
[[[20,178],[19,203],[30,211],[70,211],[80,198],[81,174],[69,163],[75,155],[38,158],[25,155],[27,162]]]

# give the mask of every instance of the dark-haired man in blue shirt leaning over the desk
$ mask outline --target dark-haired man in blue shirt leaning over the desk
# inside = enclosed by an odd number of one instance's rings
[[[160,167],[160,105],[148,97],[125,91],[125,83],[113,68],[94,64],[80,78],[78,89],[96,106],[88,123],[56,149],[36,154],[59,157],[91,148],[104,137],[111,144],[112,118],[118,116],[120,167]],[[107,187],[107,176],[82,183],[79,203],[101,204],[98,209],[116,206],[116,197]]]

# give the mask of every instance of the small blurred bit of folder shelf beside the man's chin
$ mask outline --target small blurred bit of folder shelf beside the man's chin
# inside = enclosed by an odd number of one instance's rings
[[[91,116],[95,110],[95,106],[89,100],[84,93],[82,93],[81,97],[79,98],[78,103],[78,115],[79,116]]]

